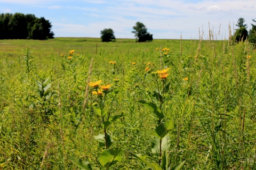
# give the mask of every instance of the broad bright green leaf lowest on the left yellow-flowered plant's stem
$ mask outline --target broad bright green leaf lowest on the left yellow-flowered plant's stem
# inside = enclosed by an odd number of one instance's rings
[[[100,164],[108,169],[111,165],[121,162],[122,156],[120,152],[121,149],[119,148],[107,149],[103,151],[99,156]]]

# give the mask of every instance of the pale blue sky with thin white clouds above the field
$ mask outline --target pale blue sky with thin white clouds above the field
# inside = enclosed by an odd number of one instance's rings
[[[0,13],[15,12],[50,20],[55,37],[100,37],[111,28],[116,38],[134,38],[139,21],[154,39],[198,39],[198,28],[207,38],[208,23],[223,39],[241,17],[251,29],[256,0],[0,0]]]

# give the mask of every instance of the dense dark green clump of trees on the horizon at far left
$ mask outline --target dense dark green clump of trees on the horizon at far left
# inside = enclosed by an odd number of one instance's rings
[[[44,17],[34,14],[0,13],[0,39],[49,39],[54,38],[52,25]]]

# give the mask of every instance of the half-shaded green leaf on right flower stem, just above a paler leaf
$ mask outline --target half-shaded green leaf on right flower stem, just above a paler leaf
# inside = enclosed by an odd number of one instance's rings
[[[174,128],[174,123],[172,120],[166,121],[164,123],[159,124],[155,129],[155,135],[158,138],[164,138],[165,135],[169,132],[169,130]]]

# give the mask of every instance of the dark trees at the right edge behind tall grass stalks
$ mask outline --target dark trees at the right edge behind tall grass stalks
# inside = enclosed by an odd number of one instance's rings
[[[252,19],[253,22],[256,22],[256,20]],[[249,40],[251,43],[256,43],[256,25],[252,24],[252,28],[247,31],[247,24],[244,24],[245,20],[243,18],[239,18],[237,21],[236,26],[238,29],[236,29],[234,39],[235,41],[245,41],[246,39]]]

